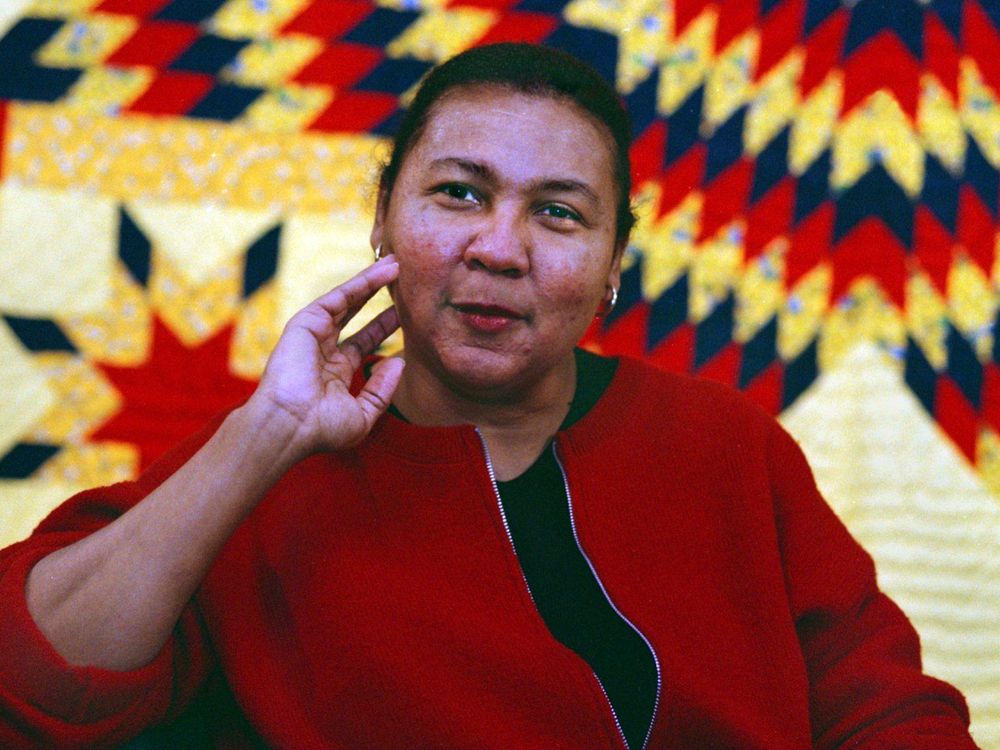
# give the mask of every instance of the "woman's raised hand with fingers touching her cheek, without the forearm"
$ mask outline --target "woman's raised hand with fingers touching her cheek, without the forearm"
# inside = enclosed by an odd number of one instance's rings
[[[388,408],[403,361],[379,362],[362,391],[351,381],[363,359],[399,325],[395,308],[383,311],[340,341],[344,326],[399,273],[392,256],[382,258],[297,312],[275,346],[260,385],[247,404],[265,410],[292,435],[296,458],[356,445]]]

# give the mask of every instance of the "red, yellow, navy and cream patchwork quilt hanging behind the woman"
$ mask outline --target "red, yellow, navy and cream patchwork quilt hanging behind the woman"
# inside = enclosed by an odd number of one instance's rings
[[[997,0],[5,0],[0,544],[252,390],[414,84],[500,40],[633,118],[587,345],[779,415],[1000,748]]]

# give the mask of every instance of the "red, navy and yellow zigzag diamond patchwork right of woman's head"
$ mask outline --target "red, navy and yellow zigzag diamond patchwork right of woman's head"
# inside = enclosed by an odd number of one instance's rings
[[[969,460],[995,460],[1000,9],[678,2],[673,23],[668,64],[627,96],[640,262],[590,340],[778,412],[874,281],[893,322],[872,335]],[[762,127],[768,108],[784,111]],[[720,245],[733,267],[696,300]],[[777,304],[741,294],[761,265]],[[810,306],[812,335],[783,347]]]

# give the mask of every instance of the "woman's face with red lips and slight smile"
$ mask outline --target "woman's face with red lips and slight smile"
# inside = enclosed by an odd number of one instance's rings
[[[567,362],[619,284],[612,144],[568,100],[476,87],[434,105],[372,231],[399,262],[408,370],[499,396]]]

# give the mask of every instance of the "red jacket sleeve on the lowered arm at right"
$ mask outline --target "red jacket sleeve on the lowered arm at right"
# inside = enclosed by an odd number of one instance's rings
[[[816,748],[969,750],[969,714],[923,674],[920,641],[882,593],[871,557],[820,496],[805,457],[775,425],[770,445],[786,586],[810,683]]]

